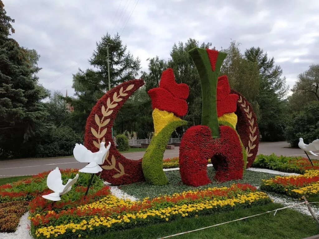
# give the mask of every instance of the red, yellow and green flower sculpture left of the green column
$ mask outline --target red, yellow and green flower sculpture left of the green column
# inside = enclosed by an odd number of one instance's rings
[[[169,68],[162,73],[159,88],[148,91],[152,99],[154,136],[142,160],[142,169],[145,180],[154,185],[167,184],[163,171],[163,155],[165,146],[173,131],[187,121],[178,116],[187,113],[186,99],[189,88],[186,84],[177,84],[174,79],[173,69]]]

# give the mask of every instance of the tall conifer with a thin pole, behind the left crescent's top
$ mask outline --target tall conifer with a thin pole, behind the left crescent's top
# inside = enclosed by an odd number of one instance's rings
[[[77,98],[72,101],[74,112],[71,117],[79,131],[84,131],[86,118],[92,107],[108,90],[108,47],[111,88],[134,79],[140,69],[140,60],[134,59],[118,34],[113,38],[106,34],[96,43],[96,50],[89,60],[94,69],[79,69],[78,73],[73,75],[73,88]]]

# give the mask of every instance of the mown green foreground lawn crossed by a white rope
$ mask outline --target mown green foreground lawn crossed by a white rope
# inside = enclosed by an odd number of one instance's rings
[[[270,203],[263,206],[256,206],[246,209],[235,209],[234,211],[200,216],[198,218],[183,218],[169,223],[158,223],[143,228],[122,230],[104,235],[98,235],[94,238],[160,238],[275,210],[280,207],[283,206],[276,203]],[[282,211],[278,211],[275,216],[273,213],[263,214],[242,221],[230,222],[225,225],[187,233],[176,238],[300,239],[315,234],[318,234],[318,225],[313,218],[292,209],[284,209]]]

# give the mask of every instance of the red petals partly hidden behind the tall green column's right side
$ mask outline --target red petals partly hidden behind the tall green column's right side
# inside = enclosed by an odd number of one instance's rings
[[[216,89],[217,116],[220,117],[226,113],[233,113],[237,108],[238,95],[229,94],[230,86],[226,75],[218,77]]]

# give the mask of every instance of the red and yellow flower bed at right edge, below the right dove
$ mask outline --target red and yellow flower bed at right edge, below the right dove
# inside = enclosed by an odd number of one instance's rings
[[[303,175],[277,176],[271,179],[263,179],[262,190],[283,193],[294,198],[301,199],[302,196],[319,196],[319,170],[306,170]]]

